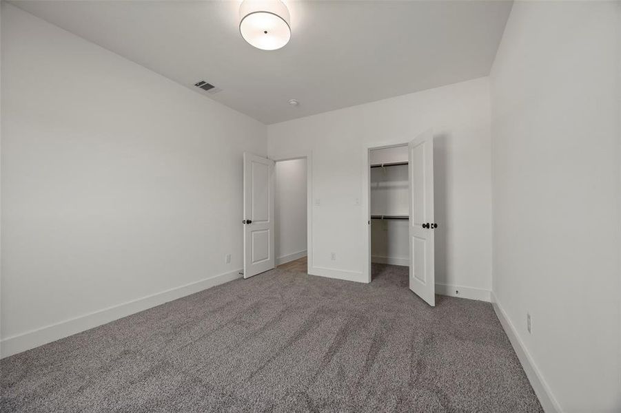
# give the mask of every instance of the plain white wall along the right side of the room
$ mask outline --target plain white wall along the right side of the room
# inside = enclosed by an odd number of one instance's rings
[[[493,291],[549,410],[621,411],[620,4],[516,2],[491,72]]]

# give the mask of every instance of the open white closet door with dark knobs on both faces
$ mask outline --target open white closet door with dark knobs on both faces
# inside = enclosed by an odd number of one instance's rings
[[[434,134],[427,131],[408,145],[409,289],[436,305],[434,268]]]

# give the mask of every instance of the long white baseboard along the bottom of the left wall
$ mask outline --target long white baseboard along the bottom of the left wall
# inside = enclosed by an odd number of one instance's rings
[[[197,282],[162,291],[161,293],[147,295],[147,297],[104,308],[94,313],[81,315],[73,319],[61,321],[57,324],[38,328],[37,330],[7,337],[0,341],[0,358],[30,350],[31,348],[42,346],[45,343],[50,343],[78,332],[110,323],[110,321],[139,313],[140,311],[185,297],[186,295],[198,293],[198,291],[217,286],[218,284],[230,282],[234,279],[241,278],[242,275],[239,274],[241,271],[241,269],[238,269],[230,273],[214,275]]]

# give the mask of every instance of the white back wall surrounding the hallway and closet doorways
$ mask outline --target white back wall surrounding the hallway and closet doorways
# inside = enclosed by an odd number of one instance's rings
[[[436,282],[491,289],[489,116],[480,78],[269,125],[269,156],[312,151],[312,272],[365,281],[365,145],[407,142],[433,127]]]

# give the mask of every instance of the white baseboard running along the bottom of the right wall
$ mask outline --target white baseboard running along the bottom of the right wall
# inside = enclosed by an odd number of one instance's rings
[[[526,376],[531,382],[531,386],[533,386],[533,390],[535,390],[535,394],[539,398],[539,402],[541,403],[544,412],[546,413],[558,413],[562,412],[558,401],[552,394],[549,385],[544,380],[540,370],[537,368],[537,365],[531,354],[528,352],[524,341],[520,339],[518,335],[518,330],[516,330],[513,323],[509,317],[507,317],[507,313],[502,309],[502,306],[498,302],[496,295],[491,292],[491,304],[493,309],[496,311],[496,315],[500,320],[500,324],[502,324],[502,328],[505,329],[505,333],[507,333],[507,337],[509,337],[509,341],[511,341],[511,346],[513,346],[513,350],[516,350],[516,354],[518,354],[518,359],[520,363],[522,363],[522,368],[526,372]]]

